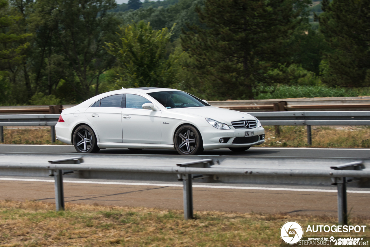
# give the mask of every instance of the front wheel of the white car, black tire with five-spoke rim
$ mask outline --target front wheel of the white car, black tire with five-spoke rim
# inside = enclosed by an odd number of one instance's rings
[[[201,134],[191,125],[181,126],[176,131],[174,144],[179,154],[197,155],[204,150]]]

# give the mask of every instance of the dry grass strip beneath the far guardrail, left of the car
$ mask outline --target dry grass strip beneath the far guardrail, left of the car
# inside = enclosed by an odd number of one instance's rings
[[[4,128],[4,144],[65,144],[51,143],[50,128]]]

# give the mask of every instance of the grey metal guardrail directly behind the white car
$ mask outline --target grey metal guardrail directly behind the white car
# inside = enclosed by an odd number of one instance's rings
[[[276,111],[248,112],[262,125],[305,125],[307,143],[312,144],[312,125],[370,125],[370,111]],[[3,126],[51,126],[51,141],[59,114],[0,115],[0,140],[4,142]]]

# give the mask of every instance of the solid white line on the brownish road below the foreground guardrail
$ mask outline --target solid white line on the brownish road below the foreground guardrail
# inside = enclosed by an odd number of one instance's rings
[[[51,183],[54,183],[54,180],[47,180],[47,179],[0,178],[0,180],[51,182]],[[75,181],[75,180],[63,180],[63,182],[64,183],[80,183],[80,184],[120,184],[120,185],[182,187],[182,184],[120,183],[120,182],[96,182],[96,181]],[[335,192],[335,193],[337,193],[336,190],[314,190],[314,189],[295,189],[295,188],[265,188],[265,187],[212,186],[212,185],[193,185],[193,187],[196,187],[196,188],[242,189],[242,190],[285,190],[285,191],[312,191],[312,192]],[[366,193],[366,194],[370,194],[370,191],[347,190],[347,193]]]

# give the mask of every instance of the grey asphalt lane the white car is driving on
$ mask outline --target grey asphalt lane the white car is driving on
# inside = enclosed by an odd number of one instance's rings
[[[69,145],[0,145],[0,153],[77,153]],[[175,150],[143,149],[131,151],[127,148],[107,148],[102,154],[178,154]],[[272,148],[252,147],[247,151],[235,153],[228,148],[204,151],[203,155],[238,155],[238,156],[280,156],[280,157],[351,157],[369,158],[369,148]]]

